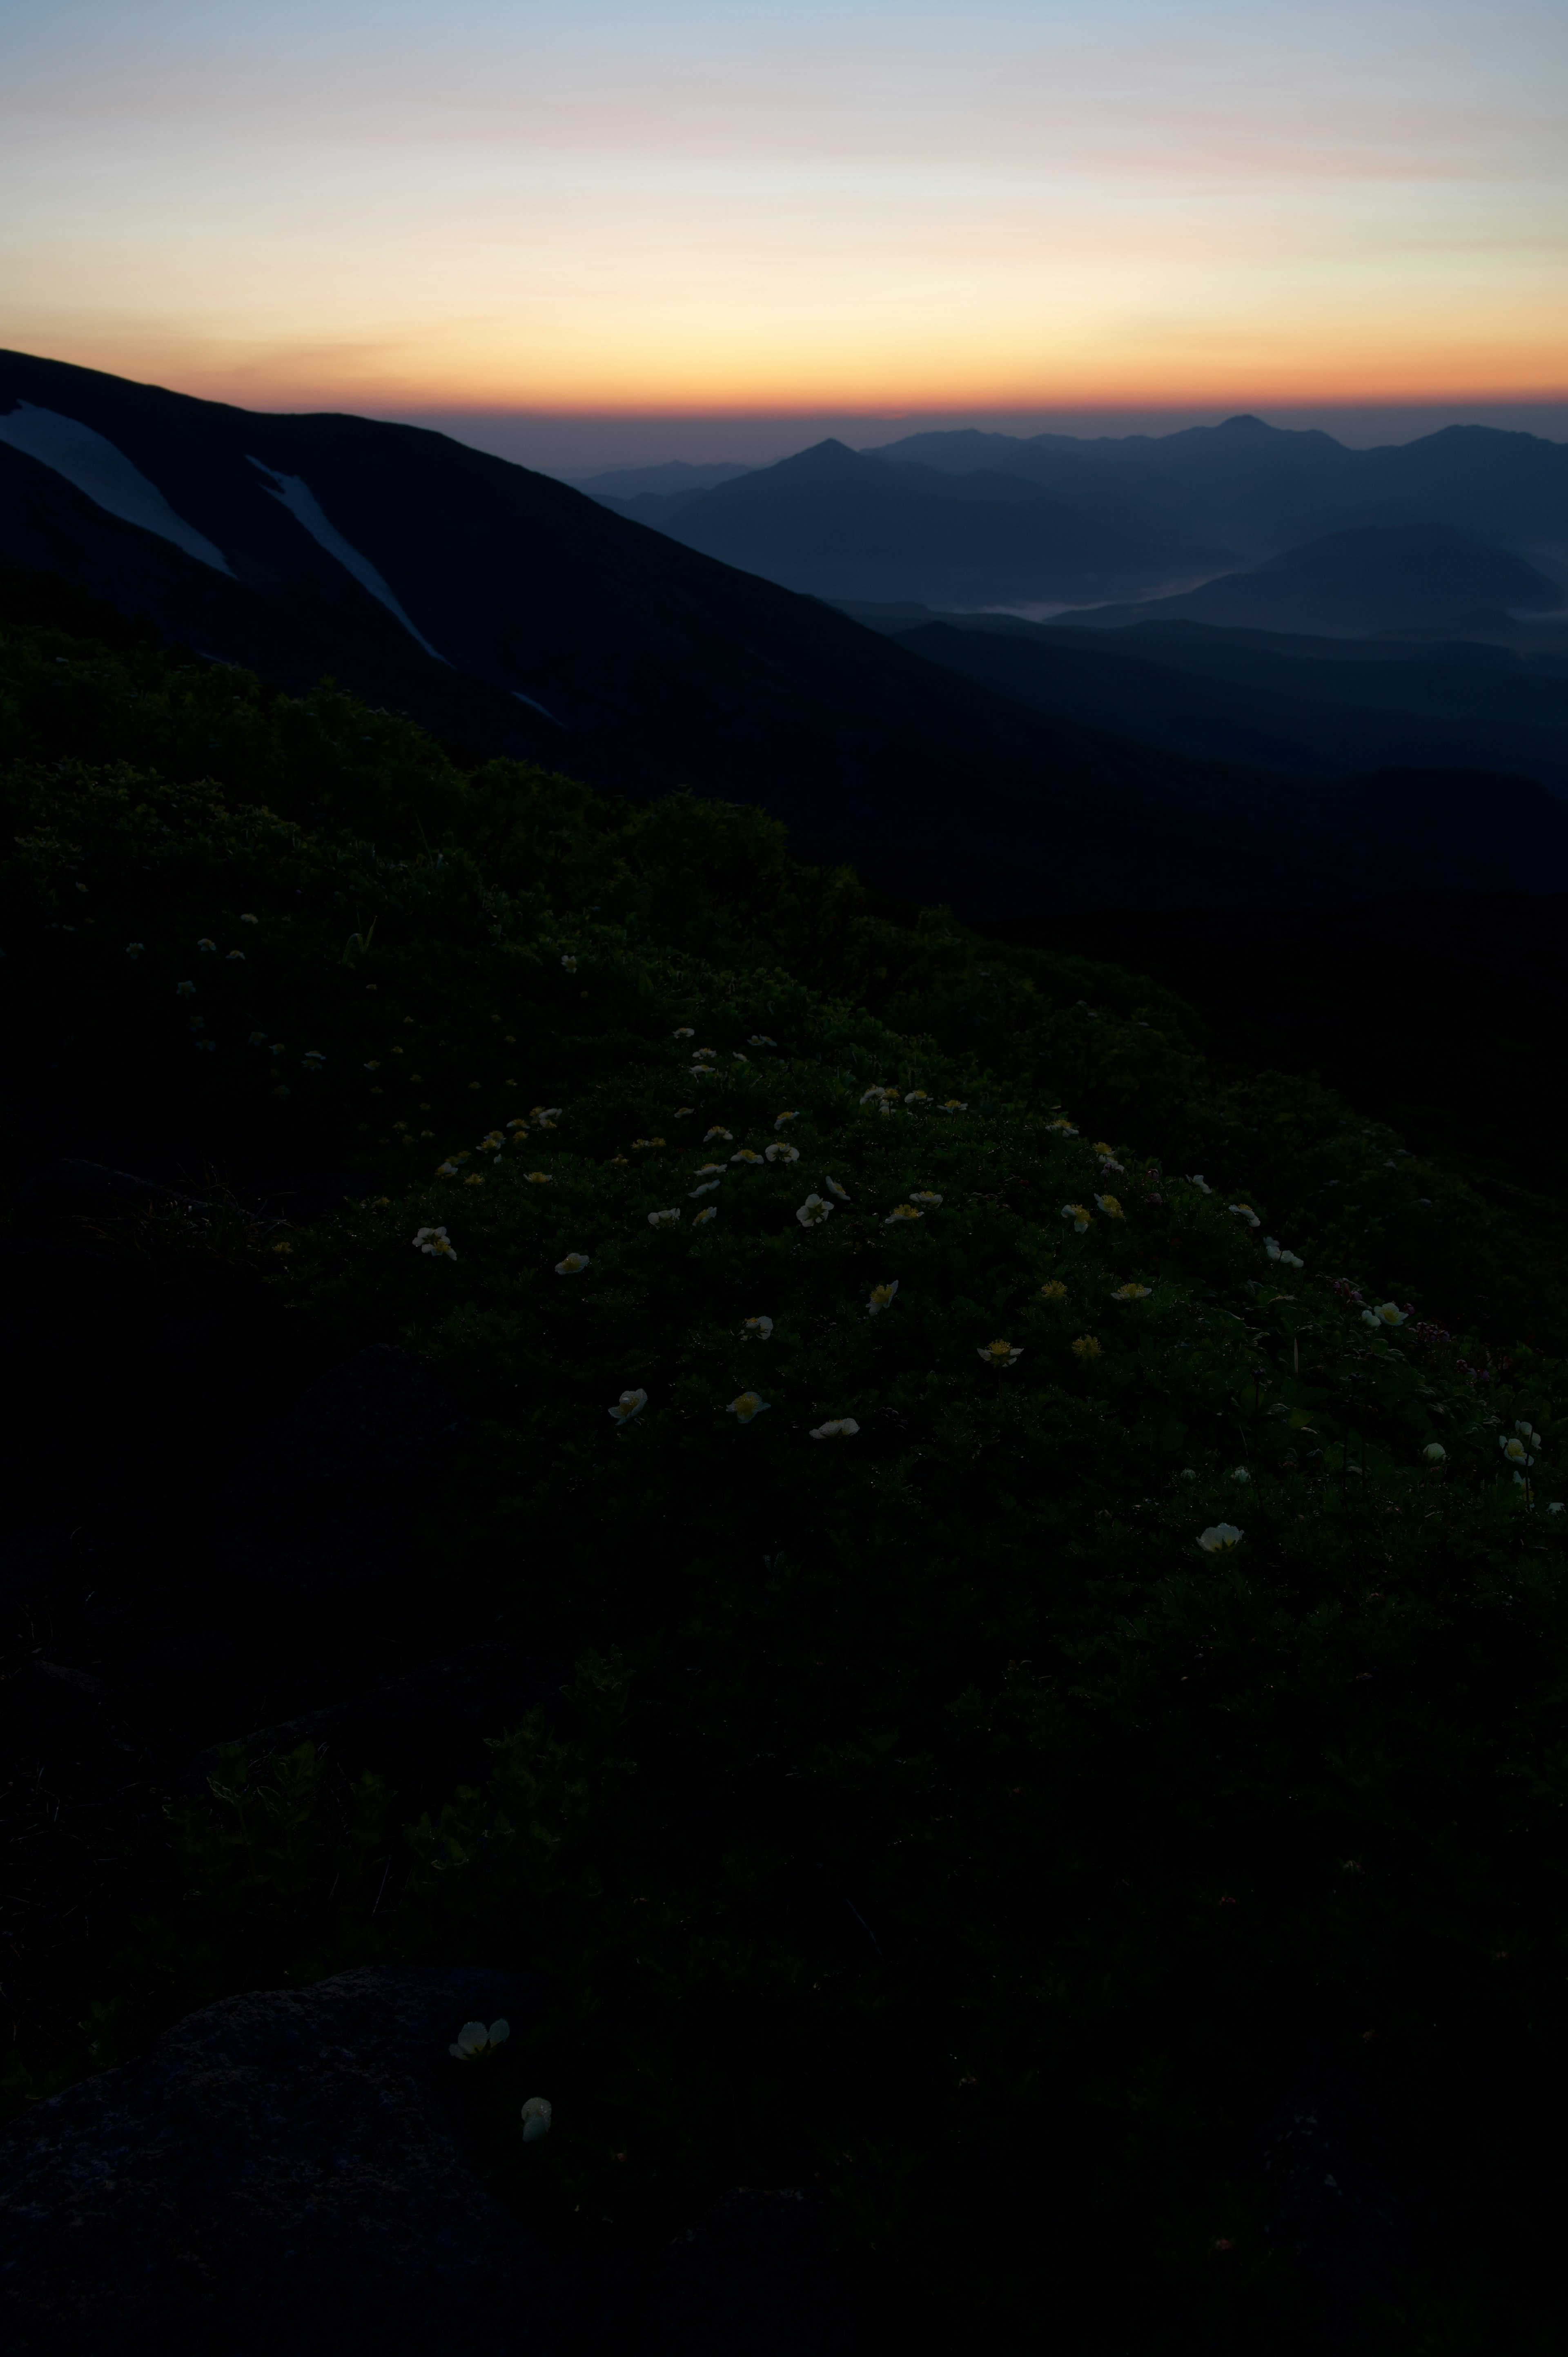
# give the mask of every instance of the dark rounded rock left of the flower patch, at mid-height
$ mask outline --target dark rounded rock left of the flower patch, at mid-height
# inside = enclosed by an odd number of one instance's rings
[[[278,1600],[356,1600],[420,1565],[415,1518],[465,1433],[446,1384],[373,1343],[241,1445],[219,1499],[222,1574]]]

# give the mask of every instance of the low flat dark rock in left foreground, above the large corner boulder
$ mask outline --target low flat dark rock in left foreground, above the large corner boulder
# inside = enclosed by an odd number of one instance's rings
[[[278,1751],[316,1744],[347,1772],[373,1768],[410,1808],[434,1808],[457,1784],[483,1784],[490,1770],[486,1735],[507,1735],[526,1711],[559,1699],[561,1673],[509,1645],[465,1645],[443,1662],[427,1662],[406,1678],[387,1678],[368,1695],[307,1711],[245,1737],[252,1770]],[[200,1751],[179,1780],[182,1791],[205,1791],[217,1770],[217,1744]]]

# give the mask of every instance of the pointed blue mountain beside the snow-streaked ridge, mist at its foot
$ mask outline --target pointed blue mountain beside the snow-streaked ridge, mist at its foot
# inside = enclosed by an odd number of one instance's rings
[[[1115,521],[1092,519],[1021,476],[889,464],[842,441],[700,497],[644,495],[620,511],[724,563],[828,599],[1082,599],[1115,594],[1115,585],[1191,582],[1228,556],[1129,500]]]

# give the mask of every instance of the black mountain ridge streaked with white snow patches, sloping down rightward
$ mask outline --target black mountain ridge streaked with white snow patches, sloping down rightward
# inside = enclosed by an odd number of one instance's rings
[[[1313,801],[1096,735],[439,434],[7,356],[0,483],[2,559],[205,655],[295,691],[328,672],[597,787],[759,801],[974,915],[1568,884],[1568,823],[1528,783]]]

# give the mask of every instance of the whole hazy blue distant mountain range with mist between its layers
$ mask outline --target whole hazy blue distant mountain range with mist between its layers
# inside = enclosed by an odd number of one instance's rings
[[[1103,441],[917,434],[879,450],[825,441],[726,481],[663,467],[582,488],[830,599],[1106,606],[1207,594],[1224,575],[1205,620],[1353,634],[1490,629],[1561,608],[1568,575],[1568,450],[1490,427],[1375,450],[1257,417]],[[1438,537],[1424,549],[1422,533]],[[1269,563],[1285,552],[1287,580]]]

